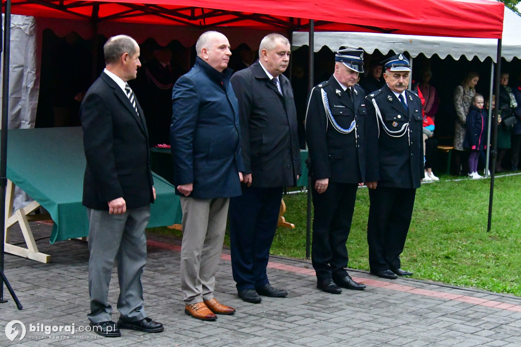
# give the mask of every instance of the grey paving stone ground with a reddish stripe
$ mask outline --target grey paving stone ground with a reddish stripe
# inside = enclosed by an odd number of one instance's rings
[[[37,242],[40,251],[51,255],[51,263],[5,255],[5,274],[23,309],[16,308],[4,289],[8,302],[0,304],[2,346],[521,346],[521,298],[513,295],[415,279],[384,280],[356,270],[350,274],[367,284],[367,289],[344,289],[333,295],[316,289],[311,262],[271,257],[270,282],[290,294],[249,304],[237,296],[226,249],[217,272],[216,298],[235,307],[237,313],[213,322],[196,320],[183,312],[180,241],[150,234],[143,275],[145,309],[165,325],[165,331],[122,330],[121,338],[101,338],[80,332],[88,326],[87,244],[73,240],[50,245],[51,227],[31,226],[35,238],[41,239]],[[117,282],[114,270],[109,292],[114,304]],[[116,313],[113,320],[117,318]],[[21,341],[20,334],[10,341],[4,333],[14,319],[27,330]],[[74,325],[75,333],[31,331],[59,325]]]

